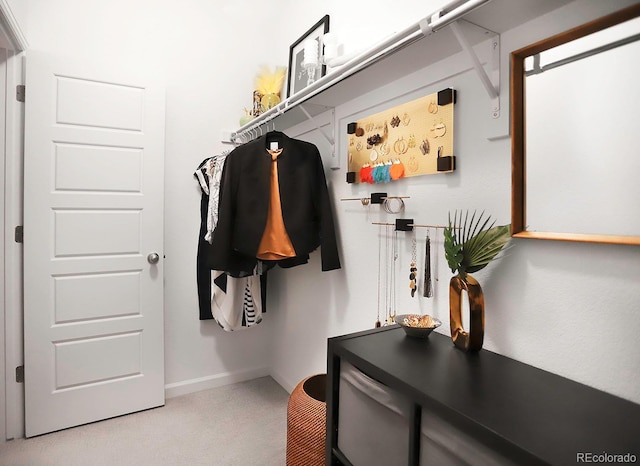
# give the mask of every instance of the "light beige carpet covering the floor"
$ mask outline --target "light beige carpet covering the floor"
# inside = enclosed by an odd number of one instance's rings
[[[161,408],[0,443],[0,465],[281,466],[288,398],[270,377],[170,398]]]

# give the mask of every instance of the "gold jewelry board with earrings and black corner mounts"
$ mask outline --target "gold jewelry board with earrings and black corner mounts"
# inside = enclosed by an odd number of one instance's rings
[[[453,171],[455,100],[456,91],[448,88],[349,123],[347,182],[378,183]],[[382,167],[394,164],[391,173],[396,175],[389,176],[387,169],[385,178]],[[371,172],[368,167],[380,176],[364,175]]]

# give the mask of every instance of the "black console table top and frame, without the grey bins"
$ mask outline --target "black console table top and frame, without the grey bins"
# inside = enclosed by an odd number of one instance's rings
[[[640,405],[490,351],[465,353],[444,335],[413,339],[393,325],[328,341],[327,465],[351,464],[339,449],[342,361],[412,403],[410,465],[419,464],[423,410],[516,464],[603,463],[594,461],[603,454],[640,462]]]

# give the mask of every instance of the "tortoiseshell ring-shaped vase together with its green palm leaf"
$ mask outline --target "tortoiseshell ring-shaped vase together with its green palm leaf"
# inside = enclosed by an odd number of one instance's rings
[[[464,218],[463,218],[464,217]],[[465,351],[478,351],[484,340],[484,294],[471,272],[485,268],[511,238],[511,225],[494,226],[484,212],[464,216],[456,211],[444,230],[444,251],[452,272],[449,283],[449,320],[453,344]],[[462,325],[462,291],[469,297],[469,330]]]

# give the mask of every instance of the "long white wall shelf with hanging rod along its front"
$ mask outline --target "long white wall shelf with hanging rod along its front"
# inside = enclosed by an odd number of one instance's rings
[[[279,129],[290,128],[344,102],[374,91],[430,64],[453,56],[463,48],[450,26],[441,26],[456,8],[468,9],[456,19],[458,29],[471,47],[520,24],[557,9],[572,0],[470,0],[451,2],[440,20],[433,15],[374,45],[342,67],[238,128],[232,138],[241,138],[272,120]],[[436,15],[437,17],[437,15]],[[447,24],[450,21],[445,21]],[[431,30],[435,29],[435,32]],[[363,71],[366,71],[363,73]],[[299,107],[303,106],[304,111]],[[266,126],[265,126],[266,129]]]

